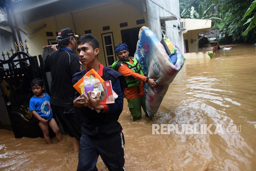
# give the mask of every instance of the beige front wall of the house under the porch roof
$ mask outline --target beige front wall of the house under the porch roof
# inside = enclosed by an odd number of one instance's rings
[[[75,25],[76,34],[83,35],[85,34],[85,30],[91,30],[92,34],[98,38],[100,42],[100,53],[98,59],[99,62],[105,66],[105,57],[101,41],[102,33],[113,32],[114,44],[116,45],[119,42],[122,42],[120,30],[148,26],[146,13],[143,13],[145,24],[137,25],[136,20],[142,19],[140,11],[122,2],[111,2],[95,6],[89,9],[73,12],[72,15],[71,13],[62,14],[56,16],[56,20],[55,17],[51,17],[24,25],[24,30],[31,33],[46,24],[46,27],[27,38],[29,53],[32,56],[43,54],[42,47],[48,45],[47,39],[56,39],[55,33],[65,27],[70,27],[75,32]],[[119,23],[123,22],[127,22],[128,26],[120,28]],[[102,27],[104,26],[109,26],[110,30],[102,31]],[[45,33],[46,31],[53,32],[54,36],[47,37]]]

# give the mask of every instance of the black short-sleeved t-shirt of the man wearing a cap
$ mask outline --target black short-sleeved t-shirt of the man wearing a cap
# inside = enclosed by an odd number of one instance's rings
[[[76,54],[68,50],[56,50],[48,55],[44,62],[44,71],[51,72],[51,104],[60,107],[74,107],[76,90],[72,85],[72,76],[82,70]]]

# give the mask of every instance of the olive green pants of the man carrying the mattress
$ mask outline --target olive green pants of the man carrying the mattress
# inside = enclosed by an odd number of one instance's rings
[[[146,109],[146,96],[142,96],[134,99],[127,99],[128,107],[133,117],[133,121],[138,121],[141,118],[141,107],[147,115]]]

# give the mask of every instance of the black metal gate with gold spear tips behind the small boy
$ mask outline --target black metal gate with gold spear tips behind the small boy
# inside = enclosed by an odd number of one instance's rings
[[[26,49],[27,46],[26,46]],[[13,53],[13,49],[11,47]],[[35,117],[29,111],[29,101],[34,95],[30,86],[34,78],[44,81],[47,93],[50,94],[47,79],[43,72],[43,58],[41,55],[31,56],[27,52],[18,51],[3,60],[0,59],[0,84],[5,105],[15,138],[43,137],[43,132],[35,121]],[[52,131],[50,133],[52,137]]]

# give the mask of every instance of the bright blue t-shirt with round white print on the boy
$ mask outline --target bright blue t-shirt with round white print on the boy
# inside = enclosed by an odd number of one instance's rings
[[[47,93],[44,94],[44,97],[33,96],[30,99],[29,110],[35,110],[40,117],[48,121],[52,118],[51,98]]]

